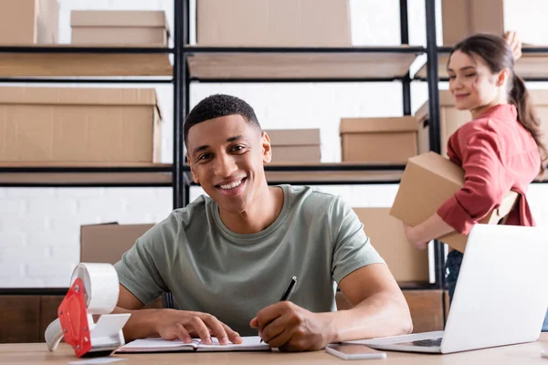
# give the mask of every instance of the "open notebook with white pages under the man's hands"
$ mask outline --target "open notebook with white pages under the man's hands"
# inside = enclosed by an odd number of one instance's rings
[[[135,339],[118,349],[117,353],[131,352],[171,352],[171,351],[267,351],[269,345],[260,343],[258,336],[243,337],[242,343],[220,345],[216,338],[213,344],[205,345],[200,339],[193,339],[191,343],[184,343],[180,339],[173,341],[165,339]]]

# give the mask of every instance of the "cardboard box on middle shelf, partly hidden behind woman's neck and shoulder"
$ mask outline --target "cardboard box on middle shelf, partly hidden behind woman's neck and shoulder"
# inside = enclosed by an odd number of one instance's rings
[[[542,122],[544,138],[548,141],[548,90],[529,90],[534,108]],[[416,110],[418,122],[418,153],[430,151],[428,102]],[[469,110],[457,110],[455,99],[448,90],[439,91],[439,128],[441,139],[441,155],[448,157],[448,140],[462,125],[472,120]]]

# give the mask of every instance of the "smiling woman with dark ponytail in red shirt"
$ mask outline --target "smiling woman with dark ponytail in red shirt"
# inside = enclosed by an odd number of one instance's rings
[[[515,35],[508,43],[518,48]],[[547,156],[540,120],[522,78],[515,75],[513,57],[520,57],[500,36],[469,36],[450,54],[449,91],[458,110],[469,110],[472,120],[448,140],[448,157],[462,166],[465,183],[426,221],[406,226],[407,239],[418,249],[437,237],[470,229],[501,203],[504,194],[519,194],[505,224],[534,225],[525,192],[544,171]],[[448,290],[452,300],[462,253],[448,254]],[[548,329],[546,326],[543,329]]]

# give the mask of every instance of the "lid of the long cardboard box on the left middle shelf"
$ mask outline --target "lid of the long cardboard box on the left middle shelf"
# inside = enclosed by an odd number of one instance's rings
[[[0,88],[1,104],[157,105],[155,89]]]

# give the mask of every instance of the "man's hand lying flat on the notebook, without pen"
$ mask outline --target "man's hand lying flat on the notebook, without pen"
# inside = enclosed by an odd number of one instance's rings
[[[242,342],[236,331],[207,313],[160,309],[155,317],[154,329],[163,339],[181,339],[188,343],[193,337],[199,337],[203,343],[211,345],[213,336],[221,345]]]

